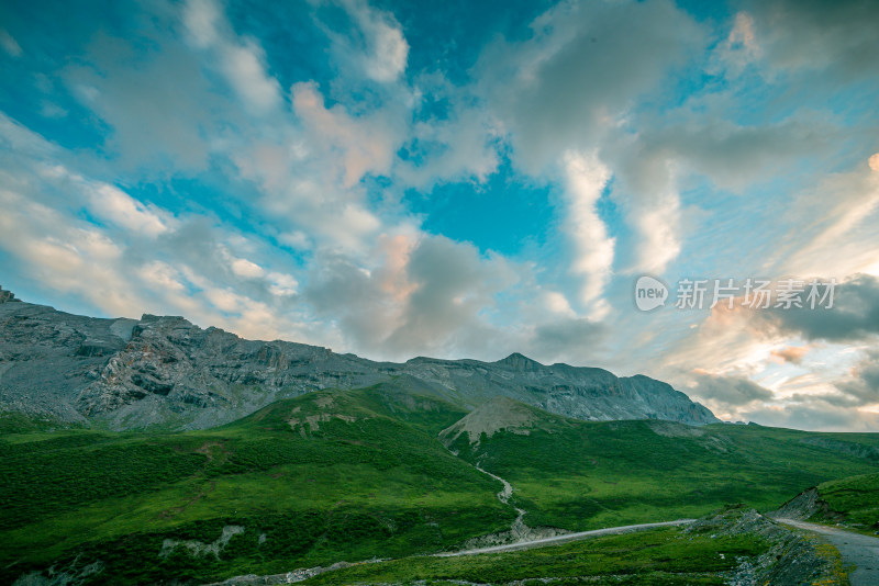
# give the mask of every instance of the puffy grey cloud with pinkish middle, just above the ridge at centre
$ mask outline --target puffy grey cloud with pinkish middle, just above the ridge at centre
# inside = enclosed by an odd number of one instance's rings
[[[494,296],[518,281],[503,259],[413,232],[382,236],[374,255],[366,267],[320,258],[303,291],[348,345],[372,358],[408,359],[481,354],[511,342],[488,317]]]

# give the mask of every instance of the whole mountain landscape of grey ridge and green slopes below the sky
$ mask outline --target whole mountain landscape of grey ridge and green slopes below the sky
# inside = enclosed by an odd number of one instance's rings
[[[845,584],[770,514],[879,527],[879,435],[722,424],[646,376],[21,302],[0,334],[4,584]]]

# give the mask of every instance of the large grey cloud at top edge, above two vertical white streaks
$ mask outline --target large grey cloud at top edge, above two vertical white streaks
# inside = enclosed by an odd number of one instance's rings
[[[569,149],[599,146],[702,43],[692,19],[660,0],[559,2],[531,27],[526,41],[487,47],[476,72],[514,159],[532,173]]]

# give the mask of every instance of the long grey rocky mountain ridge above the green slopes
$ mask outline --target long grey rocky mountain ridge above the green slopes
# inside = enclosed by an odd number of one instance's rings
[[[547,367],[518,353],[498,362],[374,362],[315,346],[245,340],[182,317],[100,319],[0,304],[0,410],[112,429],[200,429],[279,398],[380,382],[463,407],[504,395],[579,419],[716,421],[705,407],[647,376]]]

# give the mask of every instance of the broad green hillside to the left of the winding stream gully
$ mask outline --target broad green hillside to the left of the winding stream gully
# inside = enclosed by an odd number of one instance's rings
[[[500,484],[434,439],[461,415],[376,387],[200,432],[5,433],[0,583],[58,560],[77,571],[100,560],[119,584],[279,573],[504,529],[515,512],[494,497]]]

